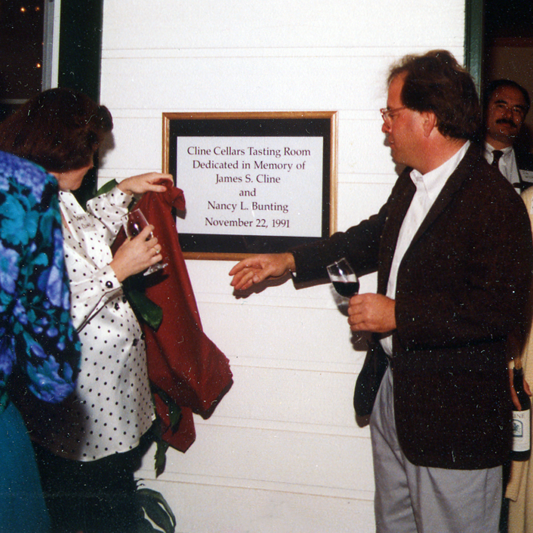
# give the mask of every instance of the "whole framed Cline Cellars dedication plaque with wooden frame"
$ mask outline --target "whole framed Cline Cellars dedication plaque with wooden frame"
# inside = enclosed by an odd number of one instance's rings
[[[185,196],[185,259],[243,259],[331,235],[336,150],[336,111],[163,113],[163,169]]]

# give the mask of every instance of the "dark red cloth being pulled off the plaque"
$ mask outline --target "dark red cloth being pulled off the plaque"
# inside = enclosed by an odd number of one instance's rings
[[[172,187],[164,193],[147,192],[135,207],[154,225],[163,262],[167,263],[163,271],[146,277],[145,294],[163,309],[161,325],[154,331],[141,321],[141,327],[146,338],[150,381],[168,394],[182,411],[180,425],[173,432],[168,408],[159,395],[155,395],[163,439],[184,452],[196,437],[192,413],[204,418],[211,415],[229,390],[232,374],[228,359],[201,327],[172,215],[172,207],[178,211],[185,208],[183,191]],[[119,235],[119,238],[123,237]]]

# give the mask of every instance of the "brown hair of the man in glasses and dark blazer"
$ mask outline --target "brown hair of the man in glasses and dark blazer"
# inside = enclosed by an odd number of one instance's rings
[[[442,135],[475,140],[481,123],[478,93],[469,72],[447,50],[406,55],[395,64],[389,83],[405,74],[401,92],[404,106],[432,111]]]

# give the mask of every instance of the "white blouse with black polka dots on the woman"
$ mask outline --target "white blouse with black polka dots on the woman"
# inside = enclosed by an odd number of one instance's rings
[[[91,200],[85,212],[74,195],[60,192],[69,226],[63,237],[71,314],[82,360],[74,395],[51,410],[33,437],[77,461],[133,449],[154,419],[141,328],[109,266],[110,245],[131,200],[115,188]]]

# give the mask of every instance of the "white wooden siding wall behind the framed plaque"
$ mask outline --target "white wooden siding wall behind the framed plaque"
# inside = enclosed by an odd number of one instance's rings
[[[463,0],[105,0],[101,100],[115,141],[100,179],[161,168],[166,111],[337,110],[346,229],[376,212],[396,177],[378,112],[389,64],[434,48],[461,61],[463,39]],[[183,533],[374,531],[369,431],[352,408],[364,352],[329,287],[287,282],[239,298],[232,263],[187,265],[235,384],[196,419],[186,454],[169,450],[155,480],[150,453],[139,477]]]

